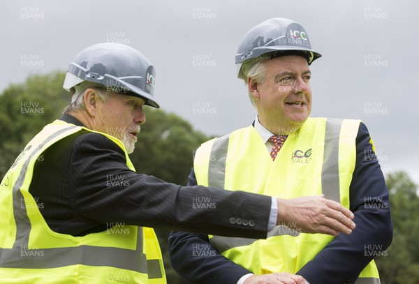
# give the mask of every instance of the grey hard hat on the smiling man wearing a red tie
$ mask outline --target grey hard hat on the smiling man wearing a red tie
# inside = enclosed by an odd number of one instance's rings
[[[242,73],[244,61],[264,54],[272,55],[272,58],[297,54],[306,57],[309,65],[321,57],[320,53],[311,50],[305,29],[297,22],[282,17],[265,20],[246,33],[235,56],[237,77],[244,78]]]

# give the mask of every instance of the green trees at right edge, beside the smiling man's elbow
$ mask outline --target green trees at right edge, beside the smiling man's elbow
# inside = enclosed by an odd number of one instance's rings
[[[405,172],[388,174],[390,207],[394,227],[388,256],[376,260],[383,284],[419,283],[418,186]]]

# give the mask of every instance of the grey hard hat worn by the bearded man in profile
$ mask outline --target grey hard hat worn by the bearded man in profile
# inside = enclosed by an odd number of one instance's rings
[[[103,85],[118,94],[138,96],[146,105],[159,108],[153,98],[154,67],[138,50],[121,43],[98,43],[84,48],[70,63],[63,88],[75,94]]]

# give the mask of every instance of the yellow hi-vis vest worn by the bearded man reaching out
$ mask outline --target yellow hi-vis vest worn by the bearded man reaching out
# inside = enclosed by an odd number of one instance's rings
[[[60,120],[48,124],[1,181],[0,283],[166,283],[152,228],[117,224],[105,232],[73,237],[53,232],[41,215],[28,191],[34,164],[45,149],[80,130],[89,129]],[[126,165],[135,170],[124,144],[101,134],[124,150]]]

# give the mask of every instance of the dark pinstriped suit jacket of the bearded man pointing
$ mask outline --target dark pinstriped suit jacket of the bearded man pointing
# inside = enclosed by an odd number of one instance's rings
[[[68,114],[61,120],[82,126]],[[266,238],[271,197],[178,186],[138,174],[126,166],[124,151],[104,135],[82,130],[59,140],[41,156],[29,192],[54,232],[84,236],[118,222]],[[211,208],[194,203],[210,203]],[[232,217],[251,219],[255,225],[232,225]]]

